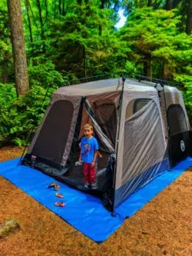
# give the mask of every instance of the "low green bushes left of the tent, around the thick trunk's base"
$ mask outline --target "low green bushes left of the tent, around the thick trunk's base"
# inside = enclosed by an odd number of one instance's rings
[[[45,89],[34,85],[28,95],[17,98],[14,85],[0,84],[0,143],[25,145],[31,130],[38,128],[53,90],[45,98]]]

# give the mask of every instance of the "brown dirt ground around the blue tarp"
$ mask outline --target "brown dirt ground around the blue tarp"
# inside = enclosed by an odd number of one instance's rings
[[[20,148],[0,149],[0,161],[20,155]],[[14,218],[21,227],[0,239],[1,256],[192,255],[192,169],[100,245],[2,177],[0,205],[0,224]]]

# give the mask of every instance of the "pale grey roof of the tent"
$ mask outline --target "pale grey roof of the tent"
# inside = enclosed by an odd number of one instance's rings
[[[111,78],[99,81],[90,81],[78,85],[69,85],[58,88],[54,94],[70,95],[70,96],[86,96],[98,95],[102,93],[110,93],[114,91],[121,91],[122,78]],[[126,78],[124,83],[124,91],[156,91],[155,83],[150,81],[137,81]],[[170,86],[166,86],[167,91],[173,91]],[[177,88],[174,88],[174,90]]]

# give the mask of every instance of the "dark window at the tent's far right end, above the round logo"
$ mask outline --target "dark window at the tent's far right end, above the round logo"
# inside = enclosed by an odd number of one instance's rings
[[[167,118],[171,136],[187,131],[187,122],[180,105],[170,105],[167,110]]]

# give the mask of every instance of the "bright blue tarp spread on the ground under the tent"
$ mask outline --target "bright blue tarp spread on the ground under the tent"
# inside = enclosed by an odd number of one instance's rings
[[[98,243],[106,240],[121,226],[125,218],[131,217],[192,166],[192,158],[181,161],[172,171],[155,178],[144,188],[132,194],[116,208],[114,216],[111,216],[99,198],[84,194],[58,181],[57,183],[61,185],[59,192],[65,195],[63,201],[66,206],[64,208],[55,206],[55,201],[58,201],[55,190],[47,188],[55,179],[41,171],[18,165],[18,161],[19,159],[14,159],[0,163],[0,175]]]

